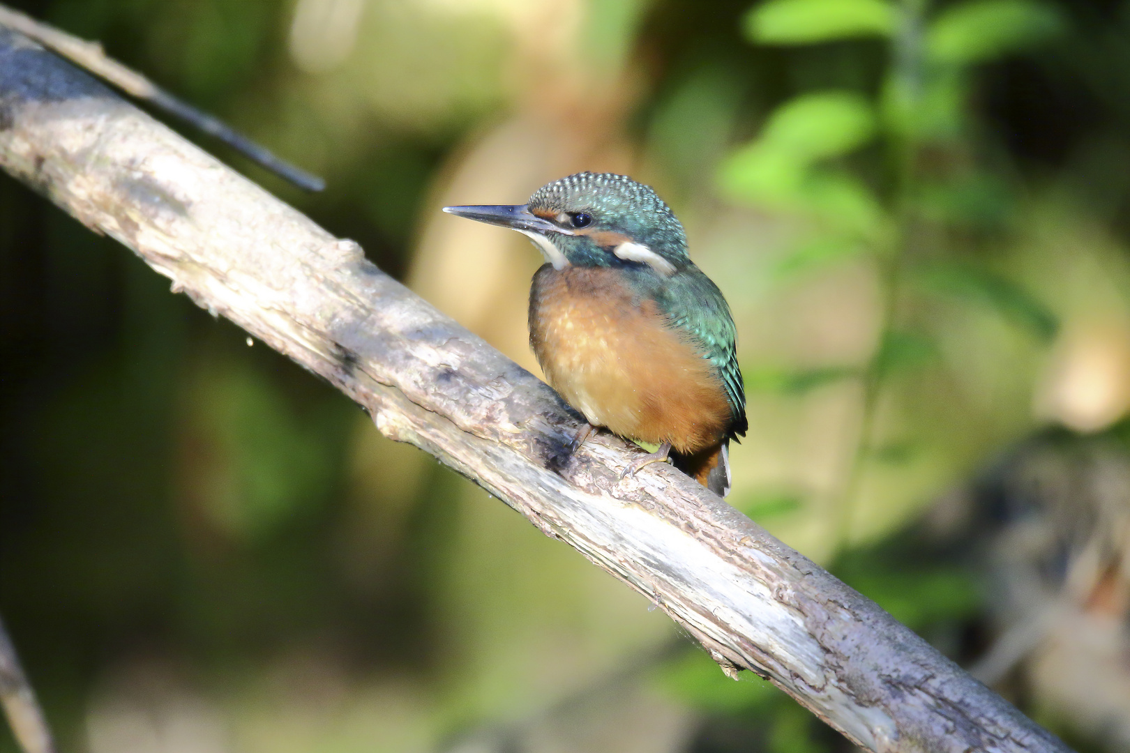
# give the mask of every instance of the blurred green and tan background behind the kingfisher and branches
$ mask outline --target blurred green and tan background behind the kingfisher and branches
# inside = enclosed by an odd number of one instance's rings
[[[738,323],[730,501],[1130,750],[1130,2],[14,6],[323,175],[186,133],[534,371],[537,252],[438,208],[654,185]],[[847,750],[5,175],[0,421],[67,753]]]

